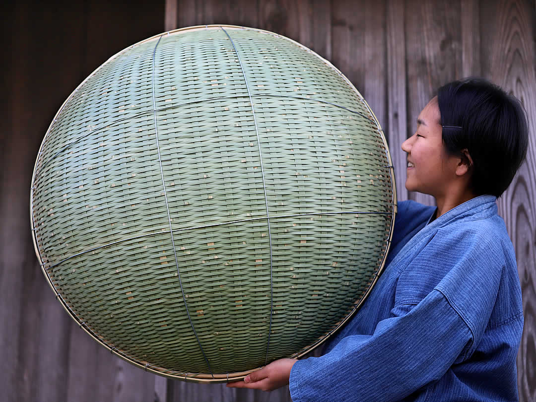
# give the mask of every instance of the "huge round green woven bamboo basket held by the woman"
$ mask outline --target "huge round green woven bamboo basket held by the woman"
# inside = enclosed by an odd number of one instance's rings
[[[381,272],[396,212],[354,86],[299,43],[227,25],[96,69],[50,124],[30,197],[42,271],[79,326],[195,382],[329,338]]]

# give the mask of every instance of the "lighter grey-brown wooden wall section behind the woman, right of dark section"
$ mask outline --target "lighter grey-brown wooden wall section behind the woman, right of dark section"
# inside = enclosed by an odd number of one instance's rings
[[[518,354],[521,401],[536,400],[536,4],[509,0],[167,0],[166,30],[203,24],[267,29],[315,50],[337,66],[369,103],[389,142],[399,199],[431,204],[404,187],[401,143],[441,85],[482,76],[516,95],[531,128],[527,160],[498,202],[515,245],[525,329]],[[204,399],[205,386],[172,382],[168,400],[290,400],[288,391]],[[214,394],[211,389],[211,393]],[[276,392],[278,392],[276,394]],[[207,394],[208,395],[208,394]],[[235,399],[233,399],[235,398]]]

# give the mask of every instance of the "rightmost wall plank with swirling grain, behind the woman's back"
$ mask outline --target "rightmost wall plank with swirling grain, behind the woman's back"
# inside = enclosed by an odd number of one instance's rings
[[[517,357],[520,401],[536,399],[536,79],[532,2],[481,4],[482,73],[522,101],[530,128],[527,159],[498,207],[513,241],[522,286],[525,326]]]

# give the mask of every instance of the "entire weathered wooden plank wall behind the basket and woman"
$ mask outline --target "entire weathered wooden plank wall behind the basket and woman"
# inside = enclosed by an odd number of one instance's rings
[[[500,212],[516,248],[525,309],[522,401],[536,400],[536,4],[534,0],[103,0],[2,5],[0,120],[0,401],[288,401],[272,393],[166,380],[109,354],[54,300],[29,233],[29,186],[47,127],[70,92],[118,50],[175,27],[268,29],[332,61],[364,95],[388,138],[399,199],[400,144],[435,88],[487,77],[520,98],[530,151]],[[149,4],[151,4],[149,6]]]

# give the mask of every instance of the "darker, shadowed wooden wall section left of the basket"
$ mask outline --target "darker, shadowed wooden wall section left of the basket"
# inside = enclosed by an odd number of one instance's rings
[[[39,145],[63,101],[111,55],[162,32],[165,4],[3,3],[0,401],[153,402],[161,377],[111,355],[55,300],[33,250],[28,191]]]

